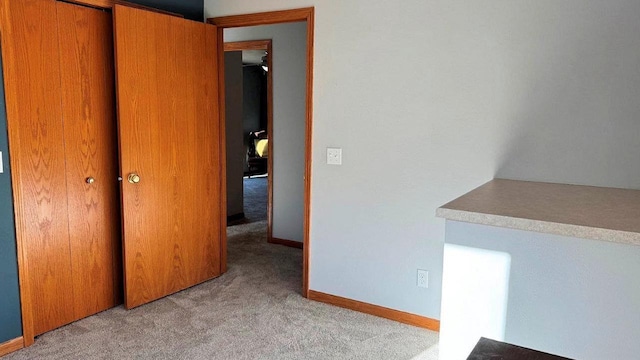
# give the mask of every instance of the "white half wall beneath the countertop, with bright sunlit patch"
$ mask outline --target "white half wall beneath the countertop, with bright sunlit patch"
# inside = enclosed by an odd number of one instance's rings
[[[467,324],[444,327],[450,315],[467,313],[476,297],[492,294],[490,283],[457,283],[465,301],[456,303],[454,291],[443,294],[440,359],[453,360],[456,351],[472,349],[480,336],[494,337],[498,326],[504,340],[571,359],[635,359],[640,352],[640,246],[585,240],[558,235],[447,221],[446,245],[465,252],[445,252],[445,272],[454,262],[462,268],[480,265],[478,254],[491,251],[511,257],[508,269],[506,318],[471,315]],[[474,277],[473,274],[469,274]],[[485,285],[485,286],[483,286]],[[478,319],[478,316],[480,319]],[[468,325],[468,326],[464,326]],[[469,327],[475,337],[468,338]],[[444,338],[449,341],[442,343]],[[443,349],[443,346],[445,347]],[[469,352],[466,352],[468,355]],[[446,356],[445,356],[446,355]],[[465,356],[466,356],[465,355]]]

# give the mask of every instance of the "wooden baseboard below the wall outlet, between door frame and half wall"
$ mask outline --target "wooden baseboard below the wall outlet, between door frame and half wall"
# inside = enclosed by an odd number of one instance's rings
[[[403,324],[413,325],[433,331],[440,331],[440,320],[435,320],[404,311],[389,309],[383,306],[347,299],[340,296],[329,295],[315,290],[309,290],[309,300],[319,301],[325,304],[330,304],[369,315],[383,317],[385,319],[401,322]]]

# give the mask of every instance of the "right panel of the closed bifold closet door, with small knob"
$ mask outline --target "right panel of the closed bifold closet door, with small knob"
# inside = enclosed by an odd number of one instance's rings
[[[73,303],[81,319],[122,302],[113,31],[108,12],[62,2],[57,12]]]

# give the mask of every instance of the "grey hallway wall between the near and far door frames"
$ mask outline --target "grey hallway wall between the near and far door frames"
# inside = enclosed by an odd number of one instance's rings
[[[306,23],[226,29],[224,41],[272,39],[273,237],[302,241]]]

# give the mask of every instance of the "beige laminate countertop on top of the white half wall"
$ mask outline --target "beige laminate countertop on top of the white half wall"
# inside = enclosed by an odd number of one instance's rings
[[[436,215],[640,245],[640,190],[494,179],[438,208]]]

